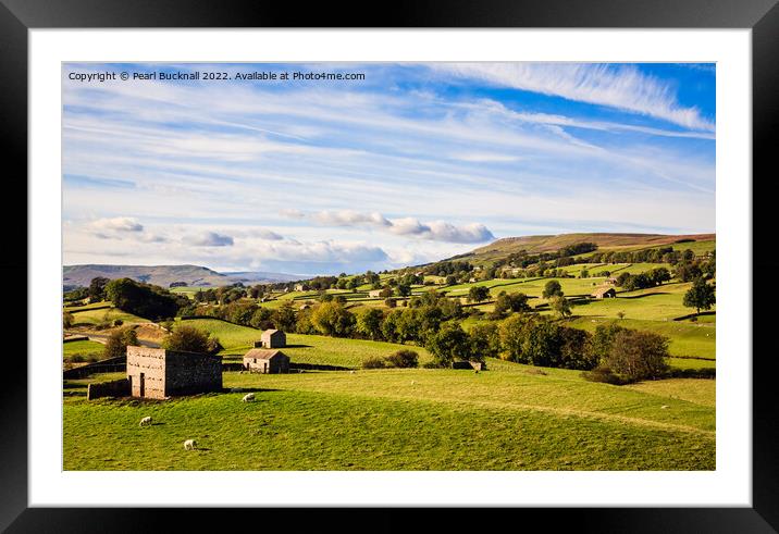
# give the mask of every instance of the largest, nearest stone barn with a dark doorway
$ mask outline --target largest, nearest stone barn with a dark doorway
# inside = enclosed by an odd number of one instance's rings
[[[222,389],[222,358],[198,352],[127,347],[133,397],[164,399]]]

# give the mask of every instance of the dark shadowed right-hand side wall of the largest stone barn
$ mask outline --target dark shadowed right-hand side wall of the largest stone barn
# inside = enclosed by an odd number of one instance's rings
[[[222,358],[197,352],[166,351],[165,396],[222,389]]]

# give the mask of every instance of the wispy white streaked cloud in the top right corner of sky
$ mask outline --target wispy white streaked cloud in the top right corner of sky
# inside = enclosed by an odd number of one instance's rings
[[[581,63],[435,63],[431,69],[569,100],[618,108],[713,132],[697,108],[681,105],[672,88],[630,65]]]

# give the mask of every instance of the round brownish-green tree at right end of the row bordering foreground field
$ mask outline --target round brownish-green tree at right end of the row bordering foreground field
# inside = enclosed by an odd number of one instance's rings
[[[668,343],[654,332],[623,330],[615,336],[605,365],[628,382],[659,378],[668,370]]]

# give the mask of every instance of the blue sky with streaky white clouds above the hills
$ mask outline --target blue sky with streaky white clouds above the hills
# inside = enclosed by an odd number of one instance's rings
[[[160,79],[196,72],[226,79]],[[338,274],[715,231],[714,64],[67,63],[62,89],[65,265]]]

